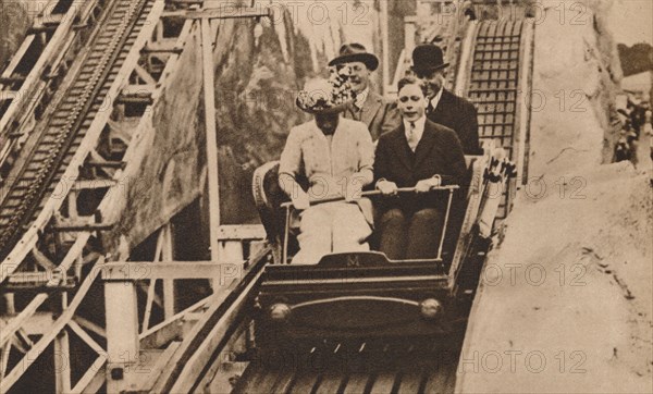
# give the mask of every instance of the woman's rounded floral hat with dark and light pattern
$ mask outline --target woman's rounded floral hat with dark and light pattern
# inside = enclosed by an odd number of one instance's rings
[[[355,99],[347,70],[332,70],[329,79],[313,78],[306,82],[295,101],[304,112],[329,114],[343,112]]]

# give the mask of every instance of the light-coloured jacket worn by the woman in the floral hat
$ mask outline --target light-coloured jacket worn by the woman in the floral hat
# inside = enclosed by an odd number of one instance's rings
[[[373,181],[374,145],[367,126],[341,116],[331,146],[315,120],[291,130],[281,153],[280,183],[284,174],[296,178],[304,174],[309,183],[312,199],[345,196],[347,184],[357,182],[367,186]],[[281,185],[286,190],[287,185]],[[367,198],[356,201],[370,224],[371,202]]]

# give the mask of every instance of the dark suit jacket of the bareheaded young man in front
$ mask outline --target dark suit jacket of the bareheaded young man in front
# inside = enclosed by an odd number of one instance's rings
[[[374,159],[374,180],[385,178],[398,187],[412,187],[418,181],[439,174],[443,185],[465,185],[467,165],[463,147],[451,128],[433,123],[424,123],[424,132],[415,152],[406,139],[404,123],[391,133],[379,138]],[[383,198],[381,210],[398,207],[418,210],[439,207],[443,194],[404,195],[402,198]]]

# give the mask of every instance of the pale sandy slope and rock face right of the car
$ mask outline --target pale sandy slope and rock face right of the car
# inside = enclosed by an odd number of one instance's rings
[[[530,182],[486,262],[456,390],[650,393],[650,174],[600,165],[614,89],[605,37],[593,17],[579,26],[554,16],[537,26],[533,89],[549,104],[533,112]],[[583,111],[569,110],[574,91]]]

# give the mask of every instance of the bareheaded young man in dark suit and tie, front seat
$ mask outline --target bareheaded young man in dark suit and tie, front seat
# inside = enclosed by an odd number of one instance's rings
[[[451,128],[426,118],[427,87],[415,77],[399,81],[402,125],[379,138],[374,160],[377,188],[393,196],[397,187],[412,195],[380,200],[380,250],[393,260],[434,258],[446,211],[446,193],[431,187],[460,184],[467,168],[463,147]]]

